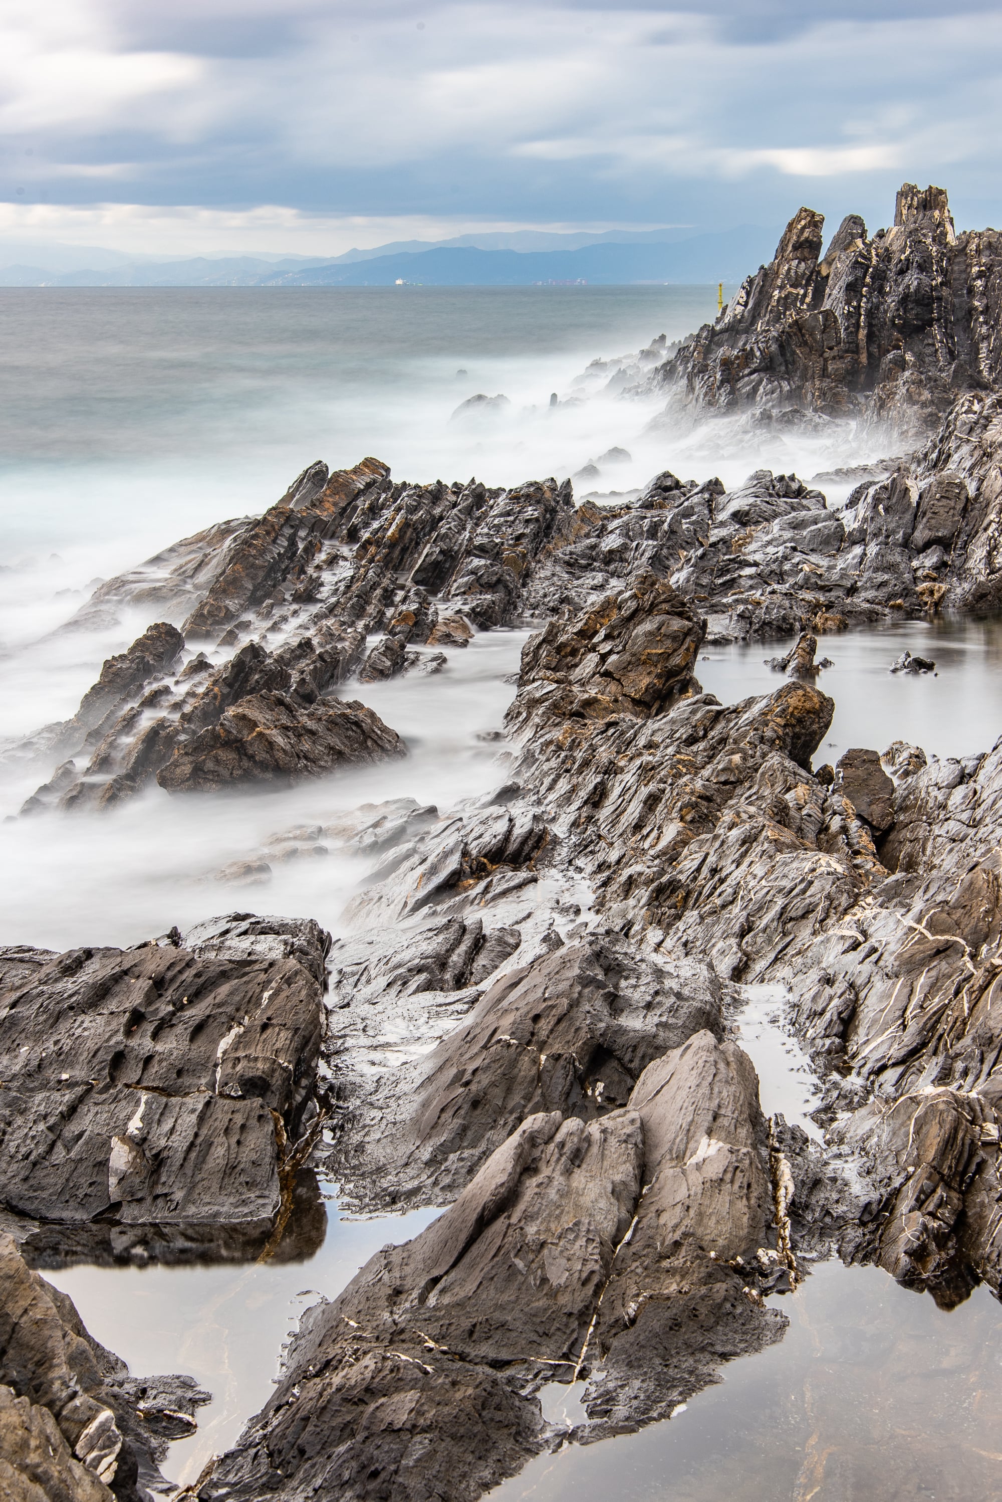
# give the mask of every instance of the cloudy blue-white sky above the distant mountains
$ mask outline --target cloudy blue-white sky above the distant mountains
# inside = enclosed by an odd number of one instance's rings
[[[0,237],[874,230],[904,180],[998,225],[1000,83],[998,0],[0,0]]]

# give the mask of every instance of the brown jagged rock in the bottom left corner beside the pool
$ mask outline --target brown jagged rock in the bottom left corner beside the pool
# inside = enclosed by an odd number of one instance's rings
[[[0,1235],[0,1484],[10,1502],[150,1502],[158,1461],[196,1428],[192,1377],[130,1377],[64,1293]]]

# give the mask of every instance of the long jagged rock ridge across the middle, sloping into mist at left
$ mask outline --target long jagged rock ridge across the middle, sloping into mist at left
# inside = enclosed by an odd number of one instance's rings
[[[710,641],[729,641],[936,610],[952,602],[962,572],[970,578],[994,511],[987,475],[984,499],[968,505],[966,482],[940,473],[950,463],[942,445],[922,463],[927,479],[864,484],[842,515],[796,476],[766,470],[729,493],[716,479],[682,484],[664,472],[634,500],[598,509],[574,508],[570,487],[552,481],[459,493],[394,485],[375,460],[334,472],[316,491],[314,466],[291,488],[296,506],[284,500],[226,533],[214,572],[200,554],[198,589],[186,574],[182,592],[186,605],[196,601],[186,646],[170,622],[152,626],[105,662],[72,719],[24,742],[22,756],[63,759],[24,811],[106,808],[154,780],[210,787],[394,754],[392,730],[338,698],[350,677],[441,670],[446,653],[422,647],[464,647],[474,628],[518,619],[608,611],[610,596],[632,589],[645,605],[651,590],[662,599],[660,616],[645,608],[634,625],[666,632],[651,652],[681,653],[670,692],[686,691],[700,619]],[[948,553],[952,521],[960,532]],[[178,544],[184,557],[201,547],[200,538]],[[986,595],[990,566],[976,572]],[[102,586],[100,605],[86,607],[80,625],[112,599],[136,604],[144,589],[129,575]],[[218,644],[195,650],[210,625],[225,628]],[[603,701],[603,712],[628,707],[633,688],[610,677],[622,623],[594,616],[582,629],[576,644],[554,649],[567,679],[561,695],[579,704],[591,695],[588,713]],[[585,646],[600,632],[597,667]],[[540,692],[556,682],[556,659],[550,667]]]

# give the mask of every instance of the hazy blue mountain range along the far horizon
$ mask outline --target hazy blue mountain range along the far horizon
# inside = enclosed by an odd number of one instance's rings
[[[520,230],[458,236],[442,243],[406,240],[370,251],[346,251],[328,260],[240,255],[156,261],[144,257],[114,264],[114,252],[96,252],[94,260],[100,264],[94,267],[0,266],[0,287],[531,287],[582,282],[608,287],[740,282],[772,257],[778,236],[776,228],[748,224],[712,234],[686,230],[612,230],[603,234]],[[468,243],[471,240],[477,243]],[[3,249],[0,246],[0,255]]]

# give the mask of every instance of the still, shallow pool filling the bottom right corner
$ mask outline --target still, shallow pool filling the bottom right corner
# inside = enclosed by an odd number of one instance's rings
[[[492,1502],[998,1502],[1002,1310],[946,1314],[879,1268],[825,1262],[778,1346],[675,1418],[540,1455]]]

